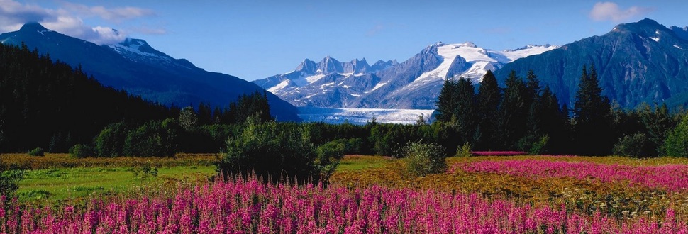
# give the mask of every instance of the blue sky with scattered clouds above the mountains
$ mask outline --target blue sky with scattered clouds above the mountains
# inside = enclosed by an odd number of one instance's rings
[[[565,45],[643,18],[684,27],[686,10],[681,0],[0,0],[0,33],[35,21],[98,44],[140,38],[197,67],[255,80],[306,58],[403,62],[440,41],[506,50]]]

